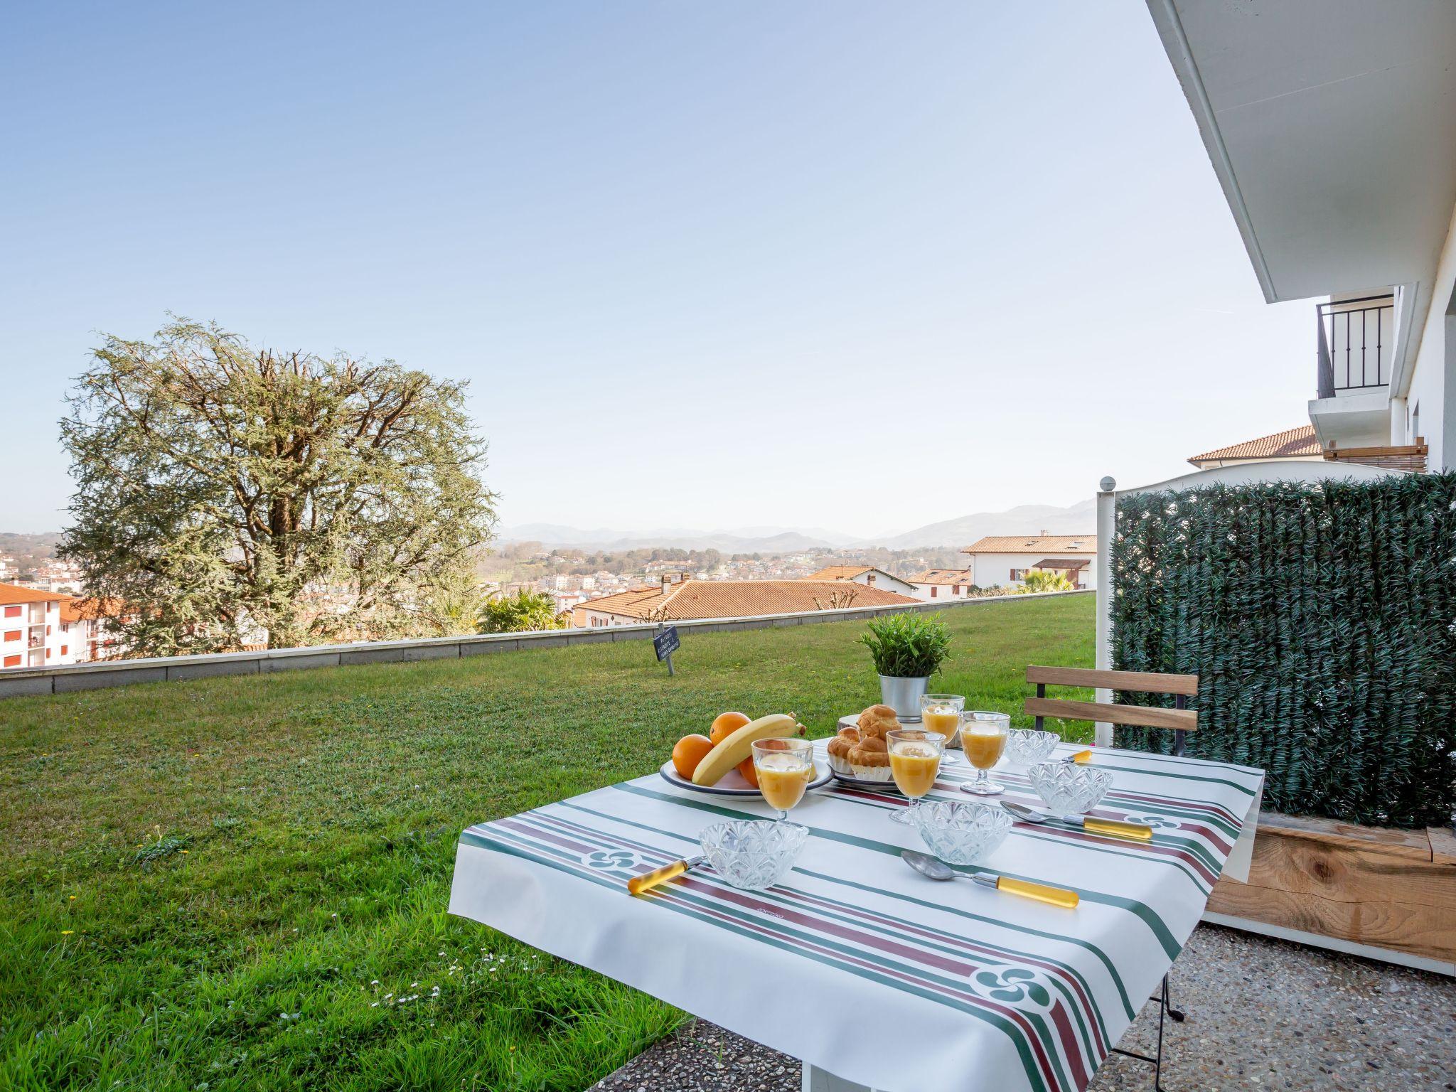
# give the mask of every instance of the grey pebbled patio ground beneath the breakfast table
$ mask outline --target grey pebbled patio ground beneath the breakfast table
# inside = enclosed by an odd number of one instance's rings
[[[1200,926],[1172,977],[1168,1092],[1456,1091],[1456,980]],[[1158,1006],[1120,1045],[1152,1053]],[[1117,1054],[1089,1092],[1150,1092],[1152,1067]],[[799,1063],[695,1021],[591,1092],[799,1092]]]

